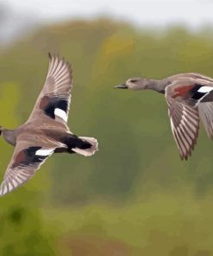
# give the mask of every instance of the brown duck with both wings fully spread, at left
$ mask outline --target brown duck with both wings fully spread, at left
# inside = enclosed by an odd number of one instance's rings
[[[0,195],[27,182],[53,153],[78,153],[87,157],[97,151],[96,138],[78,137],[67,126],[71,90],[71,65],[49,54],[47,78],[28,121],[14,130],[0,127],[6,142],[15,146]]]

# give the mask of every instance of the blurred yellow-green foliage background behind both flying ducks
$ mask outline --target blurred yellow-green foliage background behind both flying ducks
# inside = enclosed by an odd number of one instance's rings
[[[212,31],[99,19],[54,24],[1,48],[0,125],[27,120],[50,51],[72,63],[71,131],[97,138],[99,151],[55,154],[0,199],[0,255],[213,255],[213,144],[203,127],[181,161],[164,96],[113,89],[129,77],[213,77]],[[1,178],[12,153],[1,139]]]

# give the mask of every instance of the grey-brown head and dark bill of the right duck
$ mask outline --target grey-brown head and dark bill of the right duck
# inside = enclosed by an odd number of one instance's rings
[[[125,83],[114,86],[114,88],[131,89],[131,90],[145,90],[149,84],[146,78],[129,78]]]

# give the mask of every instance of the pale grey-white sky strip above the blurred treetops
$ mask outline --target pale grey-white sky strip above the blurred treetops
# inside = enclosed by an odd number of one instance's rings
[[[0,24],[0,36],[5,37],[31,24],[96,16],[112,16],[141,27],[213,27],[213,0],[0,0],[0,11],[1,6],[8,10]]]

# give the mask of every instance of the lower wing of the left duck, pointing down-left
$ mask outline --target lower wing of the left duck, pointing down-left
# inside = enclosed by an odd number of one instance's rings
[[[53,145],[41,147],[41,145],[27,140],[19,140],[3,176],[0,196],[17,189],[34,176],[35,171],[41,167],[47,157],[53,154],[55,148]]]

